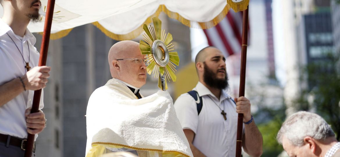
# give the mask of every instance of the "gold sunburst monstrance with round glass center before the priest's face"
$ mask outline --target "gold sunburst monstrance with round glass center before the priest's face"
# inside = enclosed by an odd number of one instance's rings
[[[143,25],[143,40],[139,41],[139,48],[143,55],[146,55],[146,62],[148,65],[148,74],[154,74],[158,78],[158,87],[162,90],[168,89],[167,81],[176,81],[176,66],[179,66],[180,58],[177,52],[170,52],[174,50],[172,35],[166,34],[162,30],[162,21],[158,17],[154,17],[153,25],[148,27]],[[176,65],[176,66],[175,66]],[[165,89],[162,86],[161,77],[165,78]]]

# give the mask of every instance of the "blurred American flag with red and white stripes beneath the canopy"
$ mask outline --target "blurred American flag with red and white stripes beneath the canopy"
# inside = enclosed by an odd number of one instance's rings
[[[208,39],[209,46],[214,46],[221,50],[225,57],[241,53],[242,12],[235,13],[230,10],[219,24],[203,31]]]

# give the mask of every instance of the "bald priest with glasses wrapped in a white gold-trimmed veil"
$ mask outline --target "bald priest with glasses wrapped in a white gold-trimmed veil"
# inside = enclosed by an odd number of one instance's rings
[[[135,41],[117,42],[109,50],[112,79],[91,94],[86,109],[86,157],[122,151],[192,156],[170,94],[139,93],[147,78],[144,56]]]

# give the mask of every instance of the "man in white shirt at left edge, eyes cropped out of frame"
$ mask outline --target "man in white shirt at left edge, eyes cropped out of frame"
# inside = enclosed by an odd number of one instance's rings
[[[0,19],[0,156],[23,156],[27,132],[38,134],[45,128],[44,113],[30,114],[30,110],[34,90],[46,87],[51,68],[37,67],[36,39],[27,30],[31,20],[40,18],[40,1],[0,0],[0,4],[4,9]],[[42,98],[43,94],[39,109],[44,106]]]

